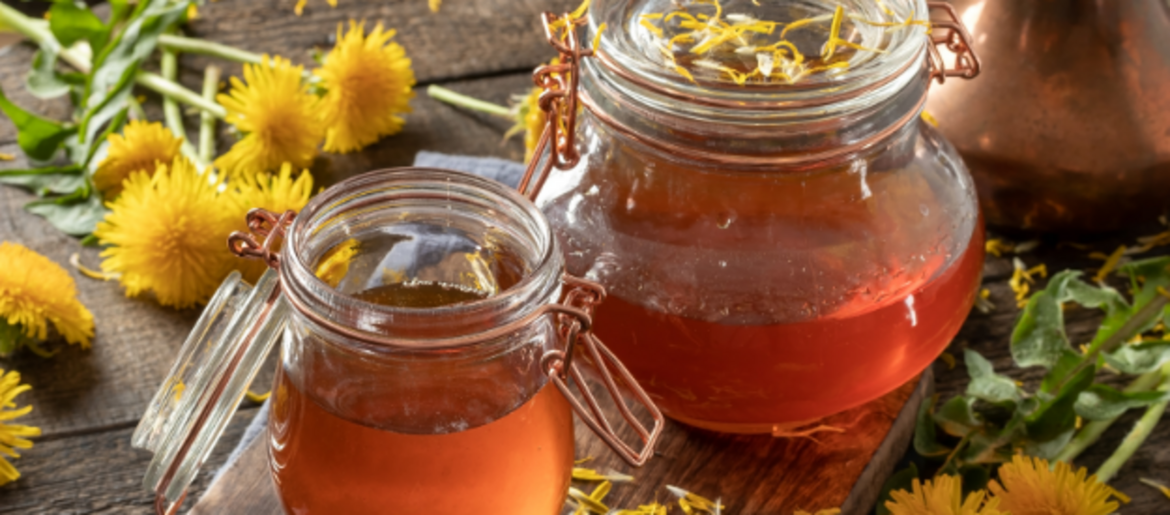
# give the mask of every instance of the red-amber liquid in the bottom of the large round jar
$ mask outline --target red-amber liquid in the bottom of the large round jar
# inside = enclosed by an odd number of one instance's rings
[[[753,433],[766,430],[753,423],[775,420],[772,430],[782,432],[855,407],[921,372],[958,332],[982,267],[979,235],[901,300],[845,318],[789,324],[703,322],[610,296],[598,308],[604,323],[597,332],[673,418]],[[663,352],[670,366],[661,366]]]

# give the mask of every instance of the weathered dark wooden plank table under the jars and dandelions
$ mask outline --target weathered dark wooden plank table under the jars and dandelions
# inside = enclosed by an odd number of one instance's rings
[[[387,27],[399,30],[398,40],[413,57],[420,87],[439,83],[504,104],[511,95],[530,87],[531,69],[551,56],[542,42],[537,14],[544,9],[564,11],[576,2],[446,0],[442,11],[433,14],[422,0],[340,0],[336,9],[329,8],[324,0],[312,0],[305,15],[297,18],[292,14],[295,0],[220,0],[206,5],[190,29],[198,36],[309,64],[314,48],[331,46],[339,22],[351,18],[367,20],[371,25],[384,21]],[[20,105],[64,118],[69,109],[64,101],[40,101],[23,91],[23,75],[32,54],[30,47],[20,44],[0,49],[0,87]],[[209,62],[206,57],[183,56],[183,82],[198,90],[201,70]],[[228,64],[227,73],[238,75],[239,67]],[[323,157],[314,166],[318,181],[328,185],[363,171],[408,165],[419,150],[517,160],[523,157],[523,147],[517,140],[501,143],[509,125],[507,121],[460,111],[427,98],[421,88],[419,92],[402,133],[360,153]],[[153,119],[160,119],[158,108],[153,109],[147,112]],[[0,119],[0,152],[20,156],[15,140],[13,126]],[[229,143],[226,137],[221,140],[221,145]],[[0,163],[0,170],[23,166],[22,158]],[[81,260],[91,266],[99,262],[97,248],[81,247],[77,240],[25,213],[21,206],[30,199],[23,191],[0,186],[0,241],[23,243],[58,263],[67,263],[74,253],[80,253]],[[1119,241],[1131,242],[1131,236],[1119,235],[1094,246],[1110,250]],[[1024,259],[1030,265],[1045,262],[1049,270],[1089,269],[1099,263],[1087,258],[1087,250],[1058,248],[1055,241],[1046,242]],[[35,439],[35,447],[15,461],[23,478],[0,487],[0,514],[150,513],[151,509],[151,496],[140,487],[150,455],[130,447],[130,433],[198,313],[160,308],[147,298],[126,298],[117,283],[74,275],[82,302],[97,318],[92,349],[69,346],[50,359],[22,353],[0,360],[0,368],[19,370],[33,386],[34,390],[20,399],[22,404],[35,406],[22,421],[40,426],[44,432]],[[989,258],[984,281],[998,309],[990,315],[972,313],[955,339],[954,355],[962,356],[958,349],[969,345],[991,358],[997,369],[1010,370],[1007,338],[1018,313],[1006,286],[1010,275],[1009,259]],[[1087,341],[1095,328],[1096,314],[1074,310],[1068,317],[1073,339]],[[937,363],[935,373],[936,390],[943,397],[965,386],[962,363],[956,369]],[[1040,373],[1023,371],[1013,376],[1028,382],[1037,380]],[[215,469],[222,464],[255,412],[255,405],[240,410],[206,469]],[[1103,461],[1137,414],[1127,414],[1080,464],[1092,468]],[[1163,424],[1143,451],[1121,471],[1114,485],[1134,499],[1123,513],[1170,511],[1170,500],[1138,483],[1138,478],[1170,482],[1168,444],[1170,425]],[[209,476],[202,474],[197,480],[192,497],[200,495]],[[764,499],[769,487],[759,485],[752,492]],[[615,490],[610,499],[620,504],[647,501],[644,496],[622,499],[622,495],[621,490]]]

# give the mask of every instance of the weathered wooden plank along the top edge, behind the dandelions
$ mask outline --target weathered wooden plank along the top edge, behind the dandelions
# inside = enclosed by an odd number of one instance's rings
[[[296,0],[220,0],[200,8],[190,26],[194,36],[255,53],[289,57],[311,64],[315,49],[332,47],[338,23],[383,22],[398,30],[397,41],[412,57],[420,82],[531,69],[553,56],[539,23],[544,11],[572,11],[578,0],[445,0],[431,13],[424,0],[371,2],[340,0],[330,8],[311,0],[304,16],[296,16]],[[212,61],[184,57],[188,70],[202,70]],[[238,67],[230,67],[236,73]],[[199,84],[191,76],[186,82]]]

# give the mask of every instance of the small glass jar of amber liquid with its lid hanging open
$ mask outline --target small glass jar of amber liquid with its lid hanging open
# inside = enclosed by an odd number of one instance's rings
[[[573,411],[615,441],[566,383],[570,342],[617,364],[590,332],[604,291],[564,276],[548,221],[516,192],[371,172],[298,215],[254,211],[249,226],[266,240],[238,233],[233,249],[273,268],[255,287],[225,282],[135,434],[156,452],[145,485],[159,513],[181,504],[276,341],[267,444],[288,513],[550,515],[567,493]],[[615,441],[633,464],[661,431],[649,412],[644,451]]]

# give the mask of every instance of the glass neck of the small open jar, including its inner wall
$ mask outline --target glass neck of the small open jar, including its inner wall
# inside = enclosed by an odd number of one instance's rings
[[[347,241],[364,246],[364,239],[386,234],[393,242],[383,249],[385,255],[352,266],[381,267],[381,281],[392,273],[405,283],[435,277],[454,283],[483,272],[475,267],[493,266],[466,263],[483,253],[508,260],[521,279],[486,291],[481,300],[413,308],[367,302],[317,276],[318,262],[331,249]],[[548,221],[526,199],[488,179],[431,169],[370,172],[323,192],[297,217],[282,256],[281,280],[290,304],[344,336],[339,341],[378,351],[448,355],[505,345],[507,338],[493,337],[491,329],[525,320],[556,301],[564,268]],[[392,261],[397,267],[387,272]]]

